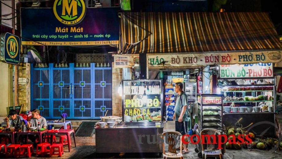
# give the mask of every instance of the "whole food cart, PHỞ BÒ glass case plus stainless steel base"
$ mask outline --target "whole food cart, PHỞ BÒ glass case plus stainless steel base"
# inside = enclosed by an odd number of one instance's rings
[[[96,153],[159,153],[163,133],[162,80],[122,81],[122,123],[95,126]],[[146,97],[145,97],[146,96]]]

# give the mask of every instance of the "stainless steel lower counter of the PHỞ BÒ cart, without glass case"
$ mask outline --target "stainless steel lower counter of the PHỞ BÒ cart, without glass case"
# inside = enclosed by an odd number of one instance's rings
[[[113,128],[95,127],[96,153],[162,153],[157,135],[162,123],[120,123]],[[149,141],[149,142],[148,142]],[[154,142],[156,141],[156,142]]]

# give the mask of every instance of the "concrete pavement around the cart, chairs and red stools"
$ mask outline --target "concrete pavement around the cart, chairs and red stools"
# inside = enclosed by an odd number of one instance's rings
[[[170,121],[165,124],[164,131],[174,131],[174,122]],[[93,137],[75,137],[76,148],[74,147],[73,138],[71,138],[71,153],[68,152],[68,146],[64,145],[64,154],[60,158],[163,158],[158,156],[158,153],[147,153],[147,154],[139,154],[139,153],[105,153],[105,154],[96,154],[95,153],[95,134]],[[59,138],[57,138],[59,141]],[[116,144],[118,143],[110,143]],[[167,146],[166,146],[167,149]],[[189,144],[190,153],[183,155],[184,158],[188,159],[196,159],[199,158],[198,154],[195,152],[195,145]],[[226,150],[223,158],[225,159],[270,159],[270,158],[282,158],[280,154],[282,152],[275,151],[266,151],[266,150],[258,150],[252,149],[248,151],[247,149],[240,150]],[[44,157],[35,157],[32,158],[44,158]],[[45,157],[49,158],[48,156]],[[56,158],[56,157],[53,157]]]

